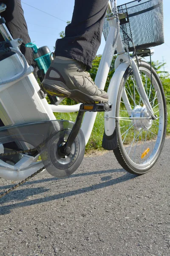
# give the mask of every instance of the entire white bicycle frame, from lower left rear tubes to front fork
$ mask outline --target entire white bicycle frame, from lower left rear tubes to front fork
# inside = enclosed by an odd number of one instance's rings
[[[113,4],[113,8],[112,8],[112,4]],[[125,53],[125,49],[119,33],[119,17],[118,17],[118,12],[116,7],[116,0],[112,0],[111,2],[109,2],[108,13],[109,13],[108,22],[110,25],[110,31],[109,31],[105,48],[102,54],[102,58],[99,64],[98,72],[96,74],[95,83],[100,89],[102,90],[104,89],[106,79],[108,77],[109,69],[111,67],[111,61],[113,59],[113,55],[116,49],[118,56],[115,61],[115,73],[113,74],[113,77],[108,87],[109,103],[111,103],[113,107],[111,111],[105,112],[105,119],[104,119],[105,134],[107,136],[111,136],[115,130],[116,100],[117,100],[119,85],[122,81],[125,71],[127,70],[127,67],[129,66],[132,67],[133,75],[135,77],[137,87],[139,89],[141,98],[147,108],[148,113],[153,119],[155,119],[155,116],[153,114],[152,107],[145,93],[138,67],[134,59],[131,58],[130,55],[128,54],[128,51],[127,53]],[[12,49],[17,53],[18,52],[20,53],[17,47],[18,39],[13,40],[11,38],[11,44],[13,46]],[[20,53],[20,57],[24,59],[21,53]],[[20,61],[20,63],[23,65],[22,61]],[[26,67],[26,65],[24,64],[23,67]],[[15,76],[14,79],[11,79],[10,81],[0,80],[0,92],[5,91],[8,87],[12,86],[12,84],[14,84],[14,81],[15,82],[20,81],[21,79],[23,79],[23,77],[26,77],[26,76],[28,76],[31,83],[34,84],[34,88],[36,88],[36,91],[40,90],[40,88],[38,89],[37,81],[35,81],[33,74],[31,74],[32,71],[33,70],[31,69],[31,67],[27,66],[27,68],[25,68],[19,75]],[[127,111],[131,112],[131,106],[128,101],[125,90],[123,91],[122,97],[125,102]],[[45,109],[46,112],[48,113],[48,119],[51,119],[51,120],[55,119],[55,116],[52,112],[62,112],[62,113],[76,112],[76,111],[79,111],[79,105],[80,105],[80,104],[72,105],[72,106],[48,105],[46,99],[43,99],[41,104],[42,104],[42,109]],[[91,136],[91,132],[96,119],[96,114],[97,113],[93,113],[93,112],[85,113],[81,129],[85,136],[86,144],[88,143],[88,140]],[[29,175],[31,175],[32,173],[36,172],[38,169],[43,167],[42,162],[36,162],[37,158],[38,156],[34,158],[31,156],[25,155],[23,159],[21,159],[14,166],[9,165],[8,163],[4,163],[2,160],[0,160],[0,177],[9,179],[9,180],[25,179],[26,177],[28,177]]]

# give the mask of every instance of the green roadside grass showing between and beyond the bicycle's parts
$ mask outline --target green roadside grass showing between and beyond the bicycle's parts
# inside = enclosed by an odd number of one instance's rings
[[[170,105],[167,105],[167,135],[170,135]],[[72,122],[75,121],[77,117],[77,112],[76,113],[54,113],[57,119],[65,119],[65,120],[70,120]],[[156,127],[154,129],[157,130]],[[156,131],[155,130],[155,131]],[[86,145],[86,152],[90,151],[91,149],[95,150],[102,150],[102,138],[103,138],[103,133],[104,133],[104,113],[99,112],[97,113],[96,120],[94,123],[94,128],[91,133],[91,137],[88,141],[88,144]],[[133,138],[133,131],[131,134],[128,134],[126,137],[126,143],[130,143]],[[149,137],[148,137],[149,139]]]

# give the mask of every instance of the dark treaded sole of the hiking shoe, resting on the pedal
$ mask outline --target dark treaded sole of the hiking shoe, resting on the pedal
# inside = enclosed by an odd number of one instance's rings
[[[85,103],[85,104],[97,104],[97,103],[107,103],[108,99],[104,99],[99,96],[90,96],[86,93],[81,92],[80,90],[70,90],[67,91],[65,90],[63,92],[62,90],[59,90],[59,86],[57,88],[53,85],[48,85],[48,84],[41,84],[41,88],[43,91],[46,93],[50,94],[51,96],[60,96],[60,97],[65,97],[65,98],[71,98],[74,99],[76,102],[80,103]]]

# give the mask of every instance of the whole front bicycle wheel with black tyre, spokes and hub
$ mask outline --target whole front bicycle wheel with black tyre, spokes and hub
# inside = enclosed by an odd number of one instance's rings
[[[139,61],[144,89],[153,108],[152,120],[142,102],[131,67],[128,67],[120,84],[116,102],[116,131],[118,147],[113,150],[121,166],[130,173],[148,172],[161,153],[167,125],[167,108],[164,90],[156,71],[150,64]]]

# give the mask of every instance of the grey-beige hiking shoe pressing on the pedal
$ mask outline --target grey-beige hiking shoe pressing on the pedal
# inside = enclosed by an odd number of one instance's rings
[[[108,94],[100,90],[83,63],[56,57],[51,63],[41,89],[50,95],[74,99],[86,104],[107,103]]]

